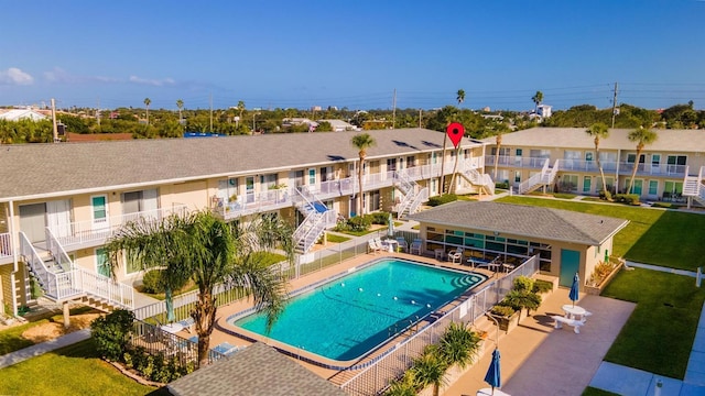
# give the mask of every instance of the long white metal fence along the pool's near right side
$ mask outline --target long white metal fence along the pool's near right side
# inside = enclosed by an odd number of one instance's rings
[[[355,396],[381,394],[389,387],[392,380],[401,377],[411,367],[413,360],[420,356],[427,345],[440,341],[452,322],[474,323],[505,298],[518,276],[533,276],[538,272],[539,256],[534,255],[506,276],[490,279],[480,290],[464,296],[464,299],[437,320],[426,324],[406,340],[392,345],[389,351],[340,387],[348,395]]]

